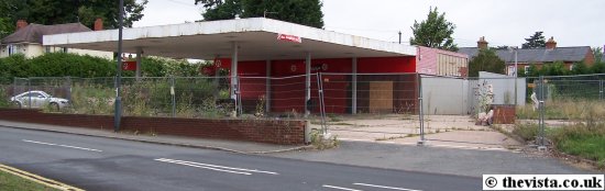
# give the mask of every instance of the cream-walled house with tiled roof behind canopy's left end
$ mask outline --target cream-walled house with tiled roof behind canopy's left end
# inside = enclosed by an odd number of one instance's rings
[[[101,31],[102,27],[102,20],[97,19],[97,21],[95,21],[95,31]],[[28,24],[26,21],[19,20],[16,22],[16,31],[11,35],[2,38],[2,41],[0,42],[0,58],[8,57],[13,54],[23,54],[25,55],[25,57],[32,58],[41,56],[44,53],[64,52],[112,59],[112,52],[45,46],[42,43],[43,35],[90,31],[92,30],[86,27],[81,23],[42,25],[34,23]]]

